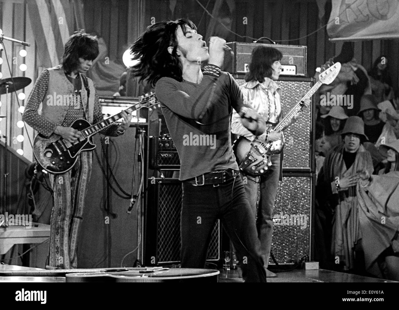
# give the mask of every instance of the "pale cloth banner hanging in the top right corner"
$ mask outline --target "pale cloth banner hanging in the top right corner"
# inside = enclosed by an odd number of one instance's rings
[[[399,38],[399,0],[332,0],[330,41]]]

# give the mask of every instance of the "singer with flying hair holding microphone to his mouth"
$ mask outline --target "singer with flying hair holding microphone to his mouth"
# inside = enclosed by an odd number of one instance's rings
[[[255,215],[231,148],[229,116],[235,109],[255,135],[263,134],[266,124],[244,104],[233,77],[221,71],[225,43],[211,37],[208,47],[190,20],[158,22],[132,45],[132,55],[140,58],[132,70],[155,85],[180,156],[182,267],[204,268],[211,230],[219,218],[237,251],[245,282],[266,282]],[[216,147],[184,145],[183,137],[190,133],[214,134]]]

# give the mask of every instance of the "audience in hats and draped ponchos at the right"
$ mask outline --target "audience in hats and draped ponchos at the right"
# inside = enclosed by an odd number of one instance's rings
[[[349,42],[333,61],[342,63],[340,73],[314,97],[316,261],[325,269],[399,280],[397,85],[386,56],[367,72]],[[322,95],[340,100],[321,104]]]

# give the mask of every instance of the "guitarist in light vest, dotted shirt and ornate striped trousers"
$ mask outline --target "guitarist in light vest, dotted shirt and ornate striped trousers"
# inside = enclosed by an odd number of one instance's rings
[[[82,32],[73,34],[65,43],[62,65],[45,69],[36,81],[22,120],[45,137],[58,134],[72,143],[81,137],[81,132],[70,127],[75,120],[83,118],[91,124],[103,120],[93,81],[84,75],[98,55],[96,37]],[[57,95],[62,98],[72,95],[73,104],[65,100],[61,102]],[[108,136],[123,134],[132,116],[125,112],[122,115],[123,122],[119,127],[113,124],[101,133]],[[81,152],[78,156],[75,166],[68,172],[57,176],[49,175],[53,188],[47,258],[49,267],[77,268],[77,234],[83,219],[93,153]]]

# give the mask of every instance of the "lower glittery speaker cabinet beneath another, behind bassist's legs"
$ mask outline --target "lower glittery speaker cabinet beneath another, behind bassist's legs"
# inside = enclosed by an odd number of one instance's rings
[[[313,176],[283,173],[273,211],[271,250],[278,264],[291,264],[304,255],[313,258]],[[269,264],[275,262],[270,258]]]

